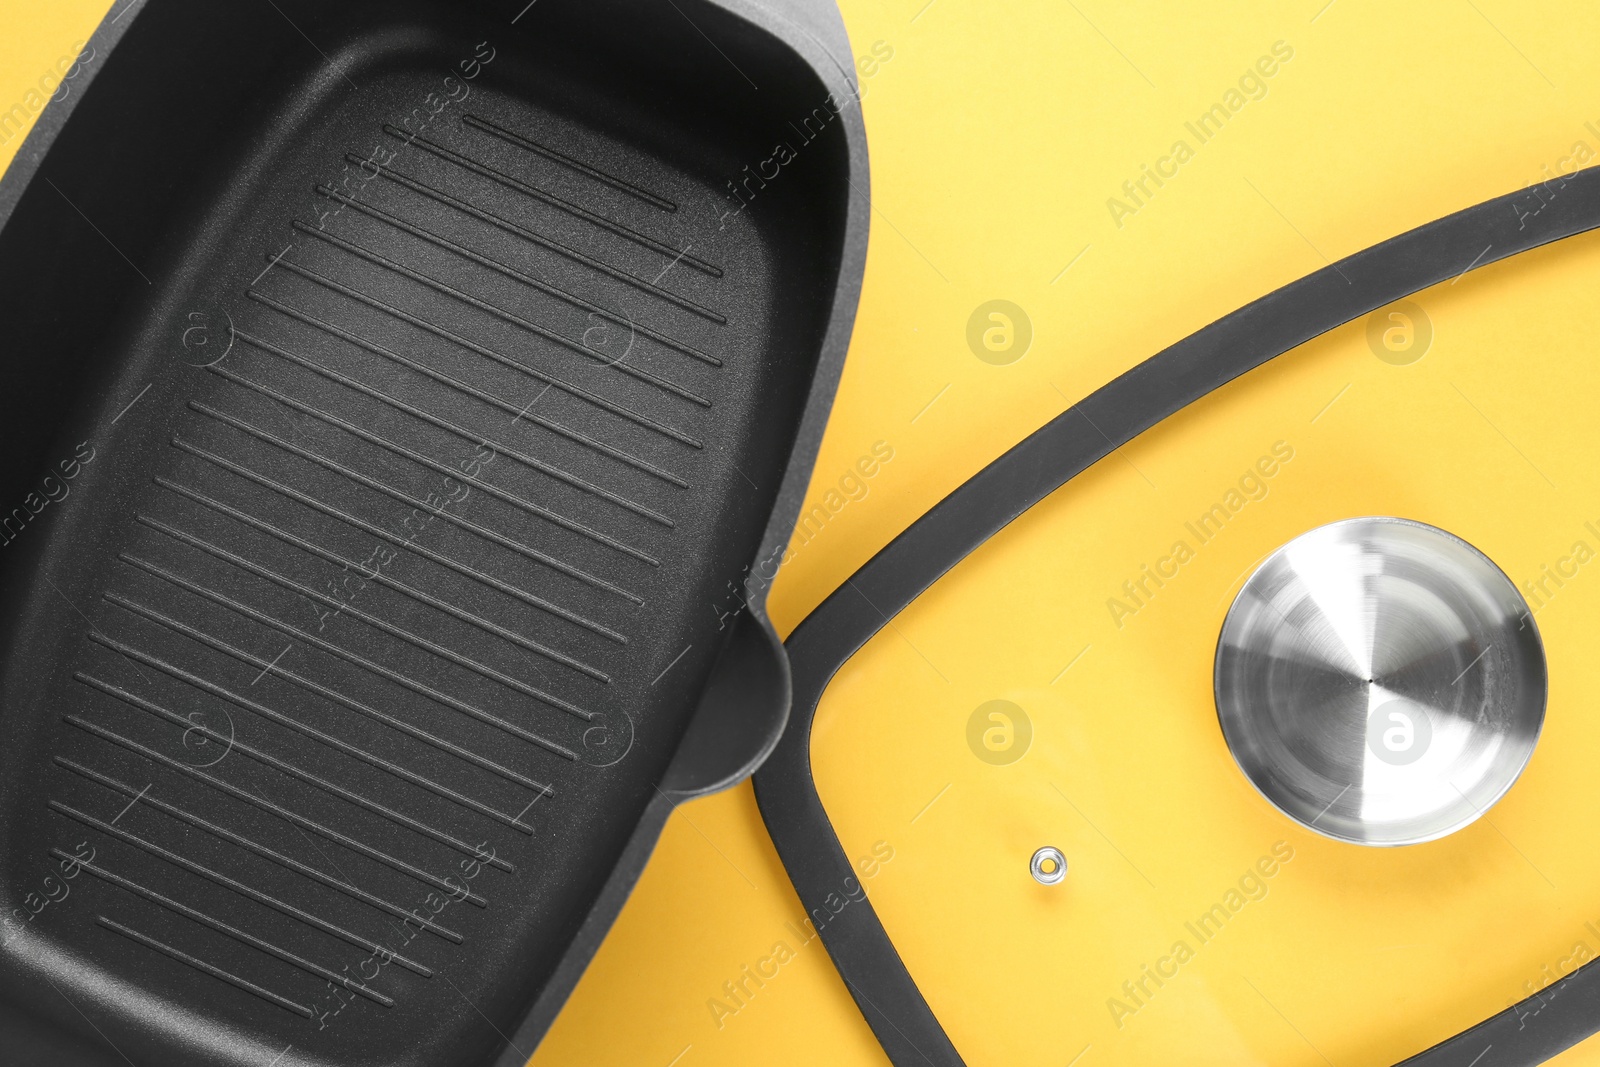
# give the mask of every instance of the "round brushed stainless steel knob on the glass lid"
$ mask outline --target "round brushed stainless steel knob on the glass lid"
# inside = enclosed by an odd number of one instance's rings
[[[1229,608],[1216,709],[1245,776],[1358,845],[1453,833],[1506,795],[1544,725],[1544,645],[1506,574],[1405,518],[1290,541]]]

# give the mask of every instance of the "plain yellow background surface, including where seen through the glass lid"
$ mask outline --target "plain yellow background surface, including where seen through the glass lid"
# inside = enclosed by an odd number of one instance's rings
[[[784,568],[781,630],[1138,360],[1328,261],[1544,179],[1578,141],[1600,150],[1589,3],[842,6],[856,54],[883,42],[893,58],[864,82],[872,238],[810,502],[875,442],[894,458]],[[0,107],[106,8],[0,0]],[[1176,139],[1194,146],[1184,123],[1275,42],[1294,58],[1266,96],[1118,227],[1107,198]],[[1582,758],[1600,741],[1582,643],[1600,565],[1539,613],[1552,699],[1526,776],[1445,841],[1379,853],[1294,829],[1208,720],[1230,592],[1309,526],[1405,514],[1517,581],[1586,537],[1582,520],[1600,520],[1579,437],[1600,394],[1597,267],[1586,237],[1419,296],[1435,336],[1411,366],[1376,360],[1363,323],[1306,346],[1053,496],[842,673],[818,720],[818,781],[846,851],[893,845],[869,891],[968,1062],[1392,1064],[1504,1006],[1576,941],[1600,950],[1584,928],[1600,926],[1600,859],[1579,837],[1600,805]],[[990,299],[1032,320],[1008,366],[966,347]],[[1269,498],[1115,630],[1104,598],[1275,440],[1296,458]],[[1035,731],[1002,768],[965,741],[971,709],[995,697]],[[1120,981],[1277,840],[1296,857],[1267,897],[1117,1030],[1104,1000]],[[1042,843],[1072,862],[1054,889],[1026,875]],[[688,805],[533,1062],[882,1064],[821,945],[789,929],[800,913],[747,785]],[[795,958],[718,1027],[707,1001],[779,941]],[[1600,1064],[1600,1046],[1558,1062]]]

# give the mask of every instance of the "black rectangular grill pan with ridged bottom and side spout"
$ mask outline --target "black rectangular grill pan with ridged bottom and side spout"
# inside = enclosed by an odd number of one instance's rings
[[[6,1062],[526,1059],[787,713],[850,66],[811,3],[112,11],[0,189]]]

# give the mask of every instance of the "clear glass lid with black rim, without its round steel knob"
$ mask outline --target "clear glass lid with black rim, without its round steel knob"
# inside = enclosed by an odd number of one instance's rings
[[[1544,957],[1597,936],[1600,869],[1544,813],[1581,825],[1594,808],[1579,589],[1600,545],[1582,443],[1600,381],[1573,323],[1597,315],[1584,278],[1600,246],[1525,251],[1600,219],[1594,174],[1563,184],[1578,195],[1547,230],[1515,211],[1528,194],[1490,202],[1179,342],[962,486],[795,632],[814,728],[790,728],[757,797],[891,1061],[1058,1062],[1093,1045],[1099,1062],[1394,1064],[1496,1013],[1539,1030],[1541,1056],[1563,1046],[1528,997]],[[1530,341],[1528,322],[1562,328]],[[1506,603],[1526,605],[1510,630],[1536,614],[1549,656],[1522,777],[1403,848],[1285,816],[1242,774],[1213,701],[1250,574],[1368,515],[1482,552]],[[1482,704],[1498,653],[1462,651]],[[901,877],[858,902],[850,857],[878,841]],[[1514,910],[1515,931],[1493,933]],[[1083,1038],[1046,1048],[1046,1030]]]

